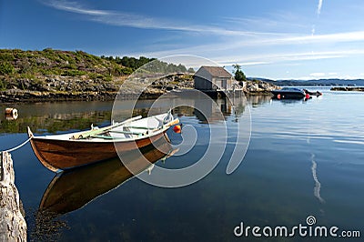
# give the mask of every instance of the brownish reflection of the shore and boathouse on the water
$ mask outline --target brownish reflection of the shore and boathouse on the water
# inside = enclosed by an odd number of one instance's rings
[[[154,107],[151,114],[148,114],[148,112],[155,100],[142,100],[136,103],[133,116],[156,115],[166,112],[168,106],[176,106],[173,113],[183,116],[196,115],[194,107],[200,107],[201,110],[205,110],[206,117],[202,117],[204,120],[206,120],[207,116],[215,116],[215,112],[221,112],[223,116],[233,114],[238,117],[243,115],[248,105],[243,94],[234,94],[215,99],[214,104],[206,99],[206,96],[197,96],[195,93],[189,95],[187,92],[173,94],[164,99],[163,103],[165,106]],[[260,106],[271,100],[270,96],[247,96],[247,99],[248,103],[253,107]],[[120,101],[120,110],[117,111],[120,115],[117,116],[119,117],[117,120],[124,120],[130,116],[130,107],[124,103],[127,103],[127,100]],[[178,103],[182,105],[178,106]],[[216,106],[218,106],[219,110],[216,110]],[[45,103],[21,107],[23,108],[22,110],[18,109],[19,117],[16,120],[5,120],[4,116],[0,116],[0,134],[25,133],[26,126],[30,126],[35,133],[83,130],[88,129],[91,124],[96,126],[107,125],[111,120],[112,114],[112,106],[108,103]]]

